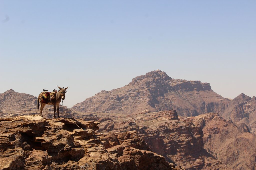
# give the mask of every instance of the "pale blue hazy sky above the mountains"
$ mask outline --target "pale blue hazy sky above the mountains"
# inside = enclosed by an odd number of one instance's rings
[[[256,95],[256,1],[0,1],[0,93],[69,86],[64,104],[160,69]]]

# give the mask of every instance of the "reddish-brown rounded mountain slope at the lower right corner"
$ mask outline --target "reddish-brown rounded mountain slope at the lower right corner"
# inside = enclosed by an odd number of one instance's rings
[[[256,136],[244,126],[236,126],[215,113],[191,117],[191,120],[202,126],[204,148],[230,169],[256,168]]]

